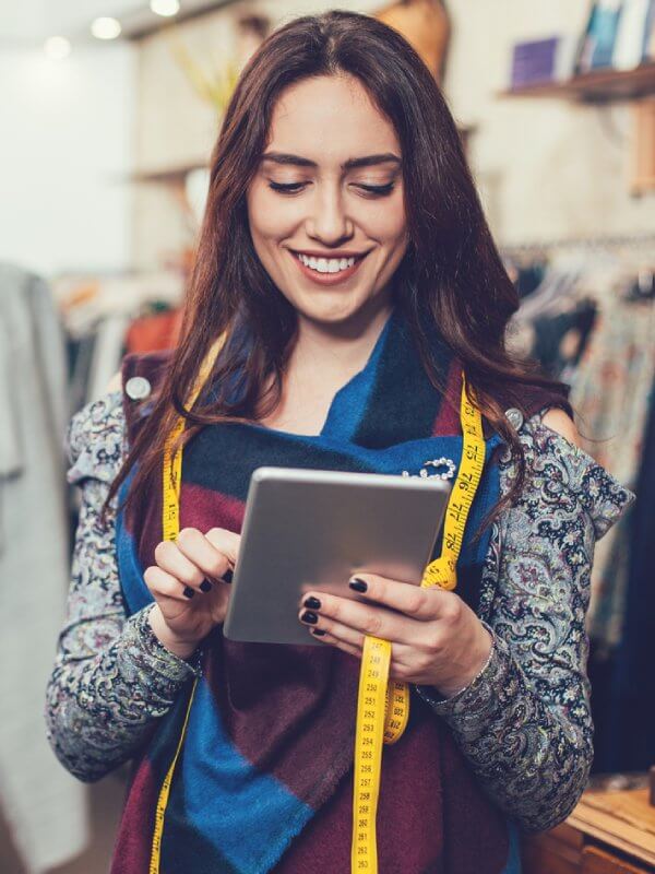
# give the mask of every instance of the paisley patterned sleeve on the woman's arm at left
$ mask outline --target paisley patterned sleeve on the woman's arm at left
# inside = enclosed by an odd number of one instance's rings
[[[67,621],[46,696],[48,739],[81,780],[129,759],[172,705],[198,660],[178,659],[151,630],[144,607],[126,617],[115,553],[116,501],[100,508],[124,454],[122,393],[106,394],[69,425],[70,483],[81,506]]]

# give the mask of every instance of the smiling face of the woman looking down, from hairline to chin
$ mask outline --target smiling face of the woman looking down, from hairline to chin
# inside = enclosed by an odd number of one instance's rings
[[[335,323],[389,306],[408,243],[401,158],[392,123],[353,76],[306,79],[277,101],[248,218],[299,317]]]

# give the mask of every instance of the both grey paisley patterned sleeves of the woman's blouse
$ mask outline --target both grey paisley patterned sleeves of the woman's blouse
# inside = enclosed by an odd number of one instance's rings
[[[539,416],[514,422],[531,475],[492,530],[479,607],[493,638],[489,661],[451,698],[416,690],[451,727],[485,791],[525,829],[540,830],[567,816],[587,779],[588,575],[595,539],[632,496]],[[71,422],[69,481],[82,489],[83,512],[47,719],[55,752],[85,780],[132,756],[196,670],[154,636],[152,605],[126,618],[112,515],[106,524],[98,518],[124,439],[121,392]],[[505,453],[503,494],[514,475]]]

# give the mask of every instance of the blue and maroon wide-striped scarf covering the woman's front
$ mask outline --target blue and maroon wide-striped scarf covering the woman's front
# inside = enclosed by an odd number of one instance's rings
[[[458,398],[460,364],[439,336],[430,342],[449,394]],[[162,355],[128,356],[123,375],[146,376],[156,388],[165,363]],[[148,405],[126,399],[126,409],[133,436]],[[472,534],[499,496],[492,450],[501,441],[487,425],[487,462],[457,565],[457,594],[474,610],[490,530],[476,543]],[[181,525],[239,532],[250,475],[262,464],[417,475],[442,456],[458,466],[461,452],[458,410],[428,380],[396,307],[365,368],[336,392],[320,435],[224,423],[194,436],[183,452]],[[160,494],[139,519],[119,513],[117,540],[132,614],[152,602],[142,571],[154,564],[162,540]],[[358,674],[358,660],[332,647],[242,643],[214,629],[204,642],[166,807],[164,874],[349,871]],[[158,721],[136,763],[112,874],[148,872],[156,801],[190,688]],[[445,723],[413,695],[407,730],[383,754],[381,874],[501,874],[509,854],[504,815],[483,792]]]

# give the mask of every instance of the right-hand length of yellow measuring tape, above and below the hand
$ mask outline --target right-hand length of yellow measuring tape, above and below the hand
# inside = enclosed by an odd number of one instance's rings
[[[462,461],[451,491],[441,555],[426,567],[421,587],[440,586],[454,589],[456,563],[462,550],[464,529],[485,463],[483,418],[466,394],[462,381],[460,418],[464,435]],[[389,684],[392,647],[388,640],[367,636],[364,640],[357,723],[355,729],[355,773],[353,793],[353,874],[377,874],[378,845],[376,813],[380,794],[383,743],[395,743],[405,731],[409,718],[409,686]]]

